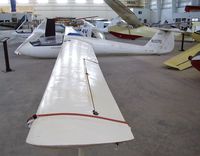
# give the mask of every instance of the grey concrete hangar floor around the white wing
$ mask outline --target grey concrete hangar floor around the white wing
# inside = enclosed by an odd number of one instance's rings
[[[145,44],[146,40],[130,42]],[[25,143],[26,120],[37,110],[55,60],[16,56],[13,52],[18,45],[9,45],[15,71],[0,72],[0,155],[77,155],[76,149],[44,149]],[[98,56],[135,140],[121,144],[118,150],[115,145],[86,147],[86,156],[200,155],[200,73],[192,68],[165,68],[163,61],[177,53],[178,48],[163,56]],[[2,46],[0,70],[4,70]]]

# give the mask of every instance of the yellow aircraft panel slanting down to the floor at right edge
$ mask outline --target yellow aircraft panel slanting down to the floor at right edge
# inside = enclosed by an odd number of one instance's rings
[[[200,44],[193,46],[185,52],[167,60],[164,64],[168,67],[175,68],[178,70],[184,70],[191,67],[191,63],[188,60],[189,56],[194,56],[200,51]]]

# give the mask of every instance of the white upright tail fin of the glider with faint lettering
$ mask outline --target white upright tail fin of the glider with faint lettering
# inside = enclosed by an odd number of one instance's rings
[[[171,52],[174,49],[174,32],[158,30],[145,47],[157,54]]]

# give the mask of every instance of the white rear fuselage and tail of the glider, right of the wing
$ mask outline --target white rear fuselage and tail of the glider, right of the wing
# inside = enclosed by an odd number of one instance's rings
[[[80,41],[90,43],[95,53],[100,54],[166,54],[174,49],[174,34],[173,32],[158,31],[153,38],[145,45],[134,45],[129,43],[121,43],[110,40],[98,40],[86,37],[70,37]]]

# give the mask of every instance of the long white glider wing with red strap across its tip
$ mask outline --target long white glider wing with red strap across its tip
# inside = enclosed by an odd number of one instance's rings
[[[67,40],[27,137],[36,146],[67,147],[133,139],[90,44]]]

